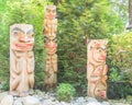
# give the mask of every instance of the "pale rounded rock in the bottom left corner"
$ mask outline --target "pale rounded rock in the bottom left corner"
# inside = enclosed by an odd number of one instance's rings
[[[13,96],[12,95],[4,96],[0,105],[13,105]]]

